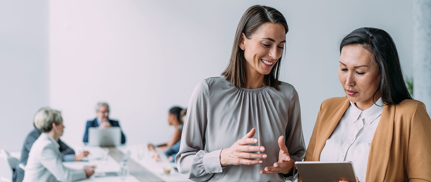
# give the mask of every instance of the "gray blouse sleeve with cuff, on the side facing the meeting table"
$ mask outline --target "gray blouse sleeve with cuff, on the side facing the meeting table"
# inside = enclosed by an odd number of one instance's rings
[[[196,86],[191,96],[180,151],[175,157],[175,164],[181,175],[197,182],[207,181],[213,173],[222,172],[221,149],[212,152],[204,150],[208,97],[209,86],[203,80]]]

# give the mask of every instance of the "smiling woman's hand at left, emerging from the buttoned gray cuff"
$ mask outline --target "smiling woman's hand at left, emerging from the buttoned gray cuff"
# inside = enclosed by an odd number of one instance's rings
[[[228,165],[254,165],[260,164],[262,160],[251,159],[264,159],[268,156],[266,154],[256,154],[252,152],[264,152],[263,146],[250,146],[248,144],[256,144],[257,139],[251,138],[256,133],[256,129],[251,129],[244,137],[237,140],[231,147],[222,149],[220,152],[220,164],[222,167]]]

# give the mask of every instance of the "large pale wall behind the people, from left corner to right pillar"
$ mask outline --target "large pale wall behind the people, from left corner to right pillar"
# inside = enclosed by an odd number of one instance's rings
[[[49,103],[62,110],[62,139],[81,143],[85,121],[95,116],[94,104],[104,100],[128,143],[167,140],[169,107],[187,106],[197,82],[220,75],[238,21],[254,4],[275,7],[287,18],[290,31],[280,76],[300,95],[307,144],[320,103],[344,96],[337,78],[344,35],[359,27],[387,30],[411,75],[409,1],[53,0]]]

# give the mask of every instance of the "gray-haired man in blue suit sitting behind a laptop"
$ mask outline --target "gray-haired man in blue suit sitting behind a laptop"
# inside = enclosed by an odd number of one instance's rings
[[[88,142],[88,130],[90,127],[120,127],[119,121],[109,119],[109,105],[105,102],[99,102],[96,104],[96,115],[97,117],[93,120],[87,121],[85,125],[84,143]],[[121,131],[121,143],[126,143],[126,137],[123,131]]]

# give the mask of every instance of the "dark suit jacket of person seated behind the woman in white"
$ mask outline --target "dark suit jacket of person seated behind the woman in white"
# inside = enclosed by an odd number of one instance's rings
[[[18,165],[20,163],[27,165],[28,153],[30,152],[31,146],[33,146],[34,141],[36,141],[40,135],[41,131],[39,131],[37,128],[34,128],[30,133],[28,133],[27,137],[25,137],[21,150],[21,159],[19,160]],[[60,145],[60,153],[63,161],[65,155],[75,155],[75,151],[73,151],[73,149],[63,143],[60,139],[58,140],[58,144]],[[13,182],[22,182],[22,179],[24,179],[24,170],[22,170],[18,165],[16,166],[15,173],[13,173]]]

